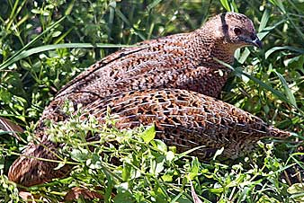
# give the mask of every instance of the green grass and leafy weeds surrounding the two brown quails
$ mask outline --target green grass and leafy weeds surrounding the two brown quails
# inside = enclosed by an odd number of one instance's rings
[[[2,7],[0,114],[28,130],[21,135],[23,142],[1,134],[0,201],[22,201],[16,185],[7,181],[7,170],[33,137],[33,123],[60,87],[118,47],[192,31],[209,16],[225,11],[246,13],[255,22],[264,49],[237,51],[235,76],[222,100],[298,136],[284,142],[264,140],[254,153],[234,161],[216,158],[207,162],[175,154],[174,147],[153,140],[153,128],[121,132],[96,129],[94,120],[71,120],[52,128],[52,134],[68,130],[66,136],[57,138],[67,143],[61,153],[71,158],[75,170],[66,179],[27,190],[52,202],[62,200],[76,186],[102,193],[105,202],[192,202],[192,181],[203,202],[303,200],[303,153],[297,150],[304,129],[301,1],[8,0]],[[88,131],[104,139],[84,143],[81,137]],[[111,135],[119,149],[114,144],[101,145],[105,135]],[[88,146],[94,146],[94,151]],[[119,164],[112,164],[114,157]]]

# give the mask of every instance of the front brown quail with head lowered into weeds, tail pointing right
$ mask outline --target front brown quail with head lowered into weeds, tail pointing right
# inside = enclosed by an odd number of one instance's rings
[[[86,107],[82,118],[93,115],[102,124],[107,108],[117,128],[136,128],[155,124],[156,138],[178,152],[205,146],[192,154],[203,159],[224,147],[223,156],[236,158],[249,151],[263,137],[289,137],[291,133],[273,128],[250,113],[231,104],[191,91],[178,89],[146,90],[120,93],[97,100]],[[44,147],[47,146],[47,147]],[[23,155],[57,159],[49,150],[57,144],[44,140],[42,145],[30,144]],[[57,163],[43,162],[21,156],[9,172],[9,179],[25,186],[65,176],[71,166],[53,171]]]

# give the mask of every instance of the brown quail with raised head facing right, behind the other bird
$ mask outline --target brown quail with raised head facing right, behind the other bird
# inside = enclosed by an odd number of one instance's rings
[[[60,112],[66,100],[85,106],[136,90],[175,88],[218,97],[230,70],[214,57],[231,64],[236,49],[251,45],[261,47],[261,41],[246,15],[216,15],[196,31],[143,41],[103,58],[63,87],[40,120],[66,119]]]

